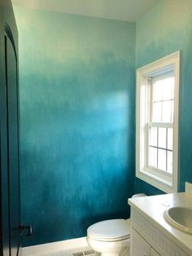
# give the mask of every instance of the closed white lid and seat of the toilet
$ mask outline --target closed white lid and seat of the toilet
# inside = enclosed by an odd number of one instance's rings
[[[119,241],[129,238],[129,223],[124,219],[110,219],[91,225],[87,235],[99,241]]]

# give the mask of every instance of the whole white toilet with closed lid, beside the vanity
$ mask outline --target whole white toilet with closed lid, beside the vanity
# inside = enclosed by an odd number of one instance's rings
[[[139,196],[146,195],[136,194],[132,197]],[[129,219],[110,219],[94,223],[88,227],[86,238],[88,245],[102,256],[119,256],[125,249],[126,256],[129,256]]]

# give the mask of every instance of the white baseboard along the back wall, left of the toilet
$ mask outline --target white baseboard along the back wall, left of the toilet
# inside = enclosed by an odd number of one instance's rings
[[[46,254],[55,254],[60,251],[68,251],[88,247],[86,237],[59,241],[43,245],[34,245],[22,248],[22,256],[37,256]]]

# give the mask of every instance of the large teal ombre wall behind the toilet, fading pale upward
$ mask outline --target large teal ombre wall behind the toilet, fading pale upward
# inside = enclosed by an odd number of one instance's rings
[[[21,219],[37,245],[129,217],[135,24],[15,7]]]

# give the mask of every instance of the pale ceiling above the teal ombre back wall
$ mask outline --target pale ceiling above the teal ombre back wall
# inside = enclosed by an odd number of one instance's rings
[[[98,18],[136,21],[160,0],[12,0],[14,5]]]

